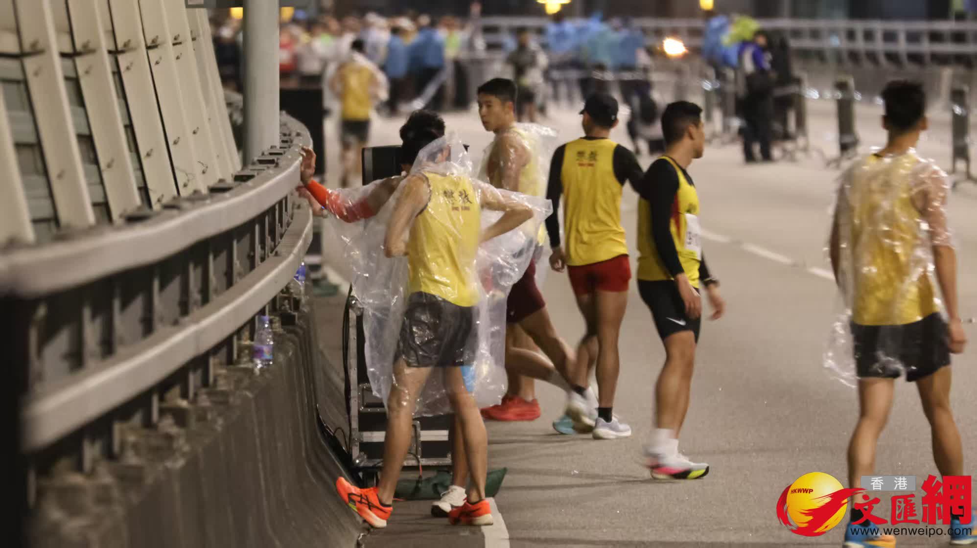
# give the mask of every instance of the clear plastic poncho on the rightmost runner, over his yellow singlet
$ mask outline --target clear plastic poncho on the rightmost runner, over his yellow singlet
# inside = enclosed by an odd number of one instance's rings
[[[872,153],[841,176],[830,243],[841,302],[824,365],[846,385],[912,377],[919,363],[944,359],[933,247],[953,246],[949,190],[947,174],[914,150]]]

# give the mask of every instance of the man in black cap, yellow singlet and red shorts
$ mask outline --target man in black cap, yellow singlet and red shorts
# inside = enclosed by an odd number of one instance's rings
[[[583,110],[585,137],[557,148],[550,163],[546,197],[553,214],[546,219],[556,272],[570,271],[576,305],[586,332],[576,350],[567,413],[576,429],[592,429],[595,440],[631,435],[631,427],[613,414],[620,369],[617,337],[627,308],[631,264],[624,228],[620,225],[620,196],[624,182],[637,185],[642,170],[634,152],[610,140],[617,125],[617,101],[606,94],[591,95]],[[566,193],[566,249],[560,241],[560,197]],[[596,361],[596,415],[586,401],[587,379]]]

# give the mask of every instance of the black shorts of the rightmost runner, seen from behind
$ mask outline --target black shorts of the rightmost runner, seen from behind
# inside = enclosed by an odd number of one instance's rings
[[[855,367],[859,378],[898,378],[917,381],[950,365],[947,322],[939,313],[905,325],[852,323]]]

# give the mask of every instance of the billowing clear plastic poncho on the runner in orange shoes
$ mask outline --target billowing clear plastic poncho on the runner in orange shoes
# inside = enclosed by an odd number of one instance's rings
[[[388,229],[401,200],[413,199],[405,194],[418,188],[426,189],[428,201],[405,230],[404,248],[392,249],[406,255],[388,257]],[[506,389],[506,298],[529,266],[534,234],[551,212],[549,202],[478,181],[469,155],[452,135],[421,150],[406,176],[339,191],[346,203],[370,200],[375,209],[361,222],[329,223],[344,241],[344,260],[355,274],[352,288],[362,309],[373,393],[388,407],[409,403],[390,399],[398,382],[395,361],[404,357],[411,376],[430,369],[415,415],[451,411],[450,368],[461,370],[466,391],[480,407],[498,403]],[[377,199],[388,194],[389,199]],[[505,209],[531,217],[479,243]]]

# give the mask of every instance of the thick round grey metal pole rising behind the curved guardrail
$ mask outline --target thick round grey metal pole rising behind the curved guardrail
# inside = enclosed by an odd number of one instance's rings
[[[244,163],[278,144],[278,2],[244,0]]]

